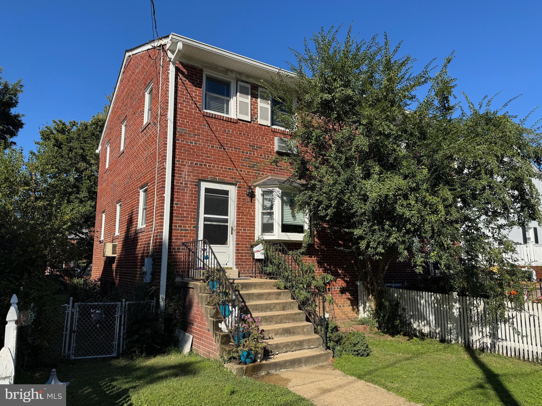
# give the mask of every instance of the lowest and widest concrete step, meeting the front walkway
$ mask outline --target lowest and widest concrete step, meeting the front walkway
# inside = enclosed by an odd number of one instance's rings
[[[332,352],[329,350],[312,348],[264,357],[262,362],[253,362],[248,365],[237,364],[236,361],[232,361],[227,364],[227,368],[237,375],[263,375],[269,372],[299,368],[300,366],[324,364],[330,361],[331,356]]]

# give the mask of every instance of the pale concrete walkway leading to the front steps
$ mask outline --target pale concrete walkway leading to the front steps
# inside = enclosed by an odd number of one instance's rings
[[[377,385],[343,374],[334,369],[331,363],[290,369],[255,378],[286,387],[317,406],[420,405],[408,402]]]

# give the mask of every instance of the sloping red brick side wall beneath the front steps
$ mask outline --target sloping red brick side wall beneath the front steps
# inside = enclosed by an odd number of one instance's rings
[[[180,287],[183,308],[181,326],[193,336],[192,350],[207,358],[219,358],[219,352],[211,329],[199,304],[197,294],[192,287]]]

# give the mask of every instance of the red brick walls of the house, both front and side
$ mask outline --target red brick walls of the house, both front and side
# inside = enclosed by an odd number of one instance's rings
[[[155,269],[159,269],[163,232],[163,189],[165,187],[165,140],[167,122],[162,121],[158,137],[158,182],[154,174],[157,148],[158,76],[154,63],[159,51],[143,52],[126,64],[101,147],[96,238],[101,230],[101,212],[106,211],[105,242],[119,243],[119,256],[104,261],[102,244],[96,240],[93,278],[130,287],[150,248],[154,191],[157,190],[156,230],[153,250]],[[152,56],[152,58],[151,58]],[[154,60],[153,60],[154,58]],[[163,69],[162,106],[167,109],[169,63]],[[227,74],[216,68],[218,73]],[[159,67],[158,67],[159,71]],[[143,127],[144,89],[153,80],[153,120]],[[246,82],[246,81],[245,81]],[[171,196],[170,258],[178,269],[182,260],[181,243],[197,238],[198,185],[200,181],[218,181],[236,185],[235,267],[241,275],[251,273],[250,244],[255,239],[255,200],[246,197],[246,188],[266,174],[288,175],[283,167],[262,166],[274,156],[274,137],[284,132],[257,122],[257,90],[251,84],[251,122],[231,119],[202,109],[203,69],[178,62],[175,72],[176,110],[174,114],[173,168]],[[126,147],[119,156],[120,124],[127,117]],[[111,140],[109,168],[105,169],[105,145]],[[147,227],[137,229],[139,188],[149,185]],[[120,235],[113,236],[115,204],[122,201]],[[315,232],[314,244],[306,259],[317,273],[327,272],[337,278],[331,293],[335,299],[334,316],[357,317],[357,272],[346,253],[340,234],[325,227]],[[159,280],[159,275],[156,276]]]

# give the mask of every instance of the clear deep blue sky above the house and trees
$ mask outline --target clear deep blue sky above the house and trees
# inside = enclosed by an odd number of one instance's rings
[[[384,31],[422,67],[451,51],[450,73],[471,100],[501,94],[500,107],[525,116],[542,94],[542,2],[310,1],[180,2],[155,0],[160,36],[177,34],[286,68],[288,47],[305,36],[350,24],[361,38]],[[28,1],[2,5],[0,66],[23,78],[18,110],[25,126],[15,139],[34,149],[38,130],[53,119],[86,120],[111,93],[125,49],[152,38],[150,0]],[[542,117],[542,108],[533,115]],[[534,120],[530,120],[532,122]]]

